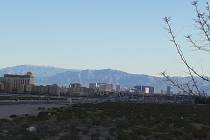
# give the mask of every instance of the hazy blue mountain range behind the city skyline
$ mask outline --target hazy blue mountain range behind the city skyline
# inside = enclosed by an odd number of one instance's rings
[[[121,85],[122,87],[133,87],[135,85],[147,85],[155,87],[156,92],[161,89],[166,90],[169,85],[164,78],[149,76],[144,74],[131,74],[113,69],[101,70],[77,70],[64,69],[51,66],[33,66],[33,65],[19,65],[0,69],[0,76],[4,74],[25,74],[32,72],[35,77],[35,84],[47,85],[69,85],[70,83],[79,82],[85,86],[93,82],[111,83],[114,85]],[[187,77],[176,77],[186,81]],[[210,91],[207,84],[202,84],[203,87]]]

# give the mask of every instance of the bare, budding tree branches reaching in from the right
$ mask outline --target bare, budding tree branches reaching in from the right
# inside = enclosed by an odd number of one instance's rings
[[[204,12],[201,12],[199,10],[198,1],[193,1],[192,5],[195,8],[195,14],[196,14],[196,19],[194,20],[194,22],[196,23],[196,26],[198,27],[198,31],[201,32],[202,42],[198,43],[198,41],[195,41],[192,38],[192,35],[188,35],[185,38],[190,42],[190,44],[192,44],[192,47],[196,48],[197,50],[210,53],[210,6],[209,6],[209,3],[206,2],[206,7],[205,7]],[[175,46],[177,53],[179,57],[181,58],[181,61],[183,62],[183,64],[186,66],[188,70],[190,81],[185,82],[184,84],[179,83],[178,81],[175,81],[174,79],[169,77],[165,72],[162,73],[162,76],[164,76],[166,80],[169,81],[173,86],[177,87],[178,89],[182,90],[183,92],[189,95],[204,96],[202,95],[204,91],[201,90],[198,86],[198,80],[201,79],[204,82],[210,83],[210,79],[207,76],[200,74],[186,60],[185,55],[182,52],[181,45],[177,42],[175,33],[173,32],[172,25],[171,25],[171,18],[165,17],[164,22],[167,25],[166,30],[168,31],[170,35],[170,42],[172,42],[173,45]]]

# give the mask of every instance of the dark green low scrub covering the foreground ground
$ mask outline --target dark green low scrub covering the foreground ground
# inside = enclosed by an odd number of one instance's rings
[[[83,104],[0,120],[0,139],[209,140],[209,116],[209,105]]]

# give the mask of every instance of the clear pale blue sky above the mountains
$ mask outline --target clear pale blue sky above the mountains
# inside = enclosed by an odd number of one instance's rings
[[[184,40],[194,29],[193,12],[190,0],[1,0],[0,68],[30,64],[184,75],[164,29],[163,17],[170,16],[189,62],[210,74],[209,54]]]

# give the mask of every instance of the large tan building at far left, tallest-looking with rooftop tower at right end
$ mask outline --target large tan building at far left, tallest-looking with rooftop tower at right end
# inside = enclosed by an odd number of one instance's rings
[[[32,91],[34,77],[31,72],[25,75],[5,74],[0,78],[5,92],[25,93]]]

